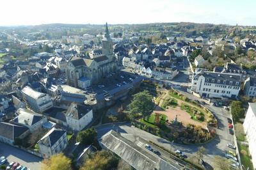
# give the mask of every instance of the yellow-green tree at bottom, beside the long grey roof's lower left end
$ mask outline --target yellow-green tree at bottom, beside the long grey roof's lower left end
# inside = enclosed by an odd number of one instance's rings
[[[87,158],[80,170],[93,169],[116,169],[118,165],[118,157],[113,155],[110,151],[97,151],[92,158]]]

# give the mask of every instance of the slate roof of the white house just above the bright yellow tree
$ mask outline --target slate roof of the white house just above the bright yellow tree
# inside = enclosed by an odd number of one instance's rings
[[[66,130],[61,130],[58,128],[52,128],[47,132],[47,134],[38,141],[38,143],[43,143],[45,145],[53,146],[59,139],[60,137],[66,133]]]

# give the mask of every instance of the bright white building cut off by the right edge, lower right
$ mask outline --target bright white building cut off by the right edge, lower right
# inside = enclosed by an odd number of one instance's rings
[[[256,167],[256,103],[249,103],[249,108],[244,119],[244,132],[249,143],[253,167]]]

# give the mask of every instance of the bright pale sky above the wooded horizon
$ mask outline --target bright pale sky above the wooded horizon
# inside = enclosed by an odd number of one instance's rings
[[[196,22],[256,26],[256,0],[0,0],[0,26]]]

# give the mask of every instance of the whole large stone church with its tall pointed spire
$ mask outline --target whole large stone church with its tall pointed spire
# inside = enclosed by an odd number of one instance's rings
[[[92,52],[90,52],[92,54]],[[90,55],[90,59],[72,57],[67,63],[67,84],[76,88],[88,88],[97,84],[111,72],[117,69],[117,61],[113,55],[113,42],[106,23],[104,37],[102,39],[102,52]]]

